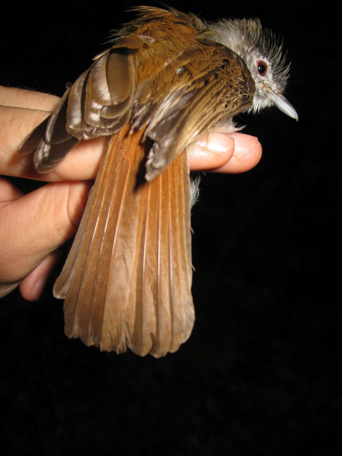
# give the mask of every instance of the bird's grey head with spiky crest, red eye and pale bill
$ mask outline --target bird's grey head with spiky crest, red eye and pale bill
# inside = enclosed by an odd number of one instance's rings
[[[215,32],[212,41],[222,43],[236,52],[246,63],[254,79],[253,112],[275,105],[298,120],[294,107],[285,98],[290,64],[286,65],[283,44],[268,29],[263,30],[259,19],[221,20],[210,24]]]

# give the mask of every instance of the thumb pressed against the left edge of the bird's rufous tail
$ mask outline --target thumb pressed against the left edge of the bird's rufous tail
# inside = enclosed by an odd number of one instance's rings
[[[23,279],[75,234],[91,185],[50,183],[0,206],[0,283]]]

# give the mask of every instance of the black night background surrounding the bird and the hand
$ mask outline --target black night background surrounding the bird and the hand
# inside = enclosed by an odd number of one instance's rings
[[[62,95],[139,4],[2,7],[0,84]],[[117,356],[67,339],[62,301],[52,297],[62,263],[39,301],[18,290],[2,300],[3,446],[49,455],[339,454],[340,145],[329,142],[341,70],[330,53],[332,17],[310,2],[170,5],[207,20],[259,16],[282,36],[299,122],[276,109],[241,116],[262,161],[245,174],[203,177],[192,217],[197,320],[175,354]]]

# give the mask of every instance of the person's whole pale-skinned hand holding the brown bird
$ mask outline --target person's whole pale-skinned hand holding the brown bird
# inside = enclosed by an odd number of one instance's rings
[[[47,174],[37,174],[32,155],[19,155],[21,141],[53,111],[60,98],[0,86],[0,175],[48,181],[23,195],[0,177],[0,284],[20,282],[21,295],[35,301],[57,260],[57,248],[76,233],[93,185],[105,138],[82,141]],[[254,136],[214,132],[196,145],[190,169],[241,173],[261,158]]]

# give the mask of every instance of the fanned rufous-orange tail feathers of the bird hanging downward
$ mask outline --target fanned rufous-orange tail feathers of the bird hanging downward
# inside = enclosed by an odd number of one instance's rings
[[[110,138],[54,294],[65,298],[68,337],[160,357],[195,318],[190,181],[184,151],[146,182],[141,136],[125,127]]]

